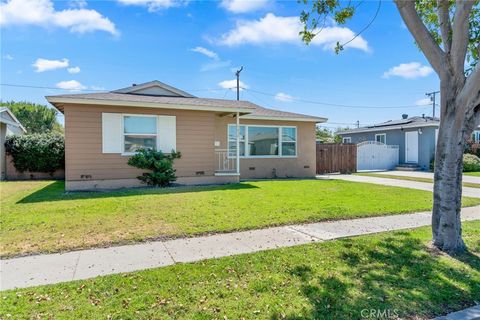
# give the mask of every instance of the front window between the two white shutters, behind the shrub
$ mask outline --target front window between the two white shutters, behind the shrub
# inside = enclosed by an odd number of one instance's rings
[[[133,153],[138,149],[156,149],[157,117],[124,116],[123,142],[125,153]]]

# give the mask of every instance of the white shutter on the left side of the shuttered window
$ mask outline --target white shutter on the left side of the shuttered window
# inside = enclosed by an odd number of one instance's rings
[[[121,113],[102,113],[102,152],[122,153],[123,132]]]

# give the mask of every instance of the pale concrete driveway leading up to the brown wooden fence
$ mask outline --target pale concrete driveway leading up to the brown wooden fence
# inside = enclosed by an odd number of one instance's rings
[[[397,179],[382,178],[382,177],[377,178],[377,177],[371,177],[371,176],[358,176],[358,175],[351,175],[351,174],[322,175],[322,176],[317,176],[317,178],[374,183],[374,184],[381,184],[384,186],[402,187],[402,188],[418,189],[418,190],[433,192],[433,183],[427,183],[427,182],[397,180]],[[480,188],[463,187],[462,194],[465,197],[480,198]]]

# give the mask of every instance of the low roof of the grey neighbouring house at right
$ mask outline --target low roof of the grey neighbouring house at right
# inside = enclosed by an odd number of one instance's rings
[[[363,132],[378,132],[378,131],[386,131],[386,130],[399,130],[399,129],[409,129],[409,128],[411,129],[411,128],[421,128],[421,127],[438,127],[439,124],[440,124],[440,120],[438,118],[411,117],[411,118],[400,119],[400,120],[389,120],[386,122],[374,124],[372,126],[340,131],[338,132],[338,134],[347,135],[347,134],[363,133]]]

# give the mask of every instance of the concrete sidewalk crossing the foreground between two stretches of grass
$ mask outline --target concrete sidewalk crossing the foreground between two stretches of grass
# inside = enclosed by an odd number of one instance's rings
[[[462,219],[479,220],[480,206],[462,209]],[[53,284],[430,223],[430,213],[419,212],[6,259],[0,262],[0,285],[8,290]]]

